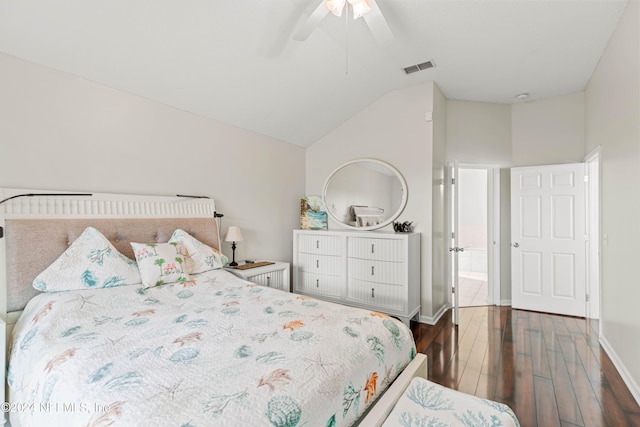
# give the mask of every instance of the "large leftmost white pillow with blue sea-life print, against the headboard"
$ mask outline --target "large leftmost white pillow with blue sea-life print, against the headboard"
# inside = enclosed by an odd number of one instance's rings
[[[136,263],[93,227],[82,234],[33,281],[39,291],[111,288],[140,283]]]

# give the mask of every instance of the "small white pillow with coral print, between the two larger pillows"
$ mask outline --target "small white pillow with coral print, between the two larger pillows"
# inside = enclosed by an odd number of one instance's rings
[[[186,268],[190,259],[189,251],[182,242],[131,242],[131,247],[145,287],[175,282],[185,284],[191,280]]]

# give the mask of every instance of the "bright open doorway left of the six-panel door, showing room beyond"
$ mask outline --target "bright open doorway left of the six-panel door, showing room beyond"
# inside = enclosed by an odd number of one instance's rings
[[[488,171],[458,169],[458,301],[460,307],[491,304],[488,260]]]

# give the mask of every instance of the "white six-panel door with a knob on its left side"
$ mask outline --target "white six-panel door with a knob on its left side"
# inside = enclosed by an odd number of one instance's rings
[[[513,308],[585,316],[585,166],[511,169]]]

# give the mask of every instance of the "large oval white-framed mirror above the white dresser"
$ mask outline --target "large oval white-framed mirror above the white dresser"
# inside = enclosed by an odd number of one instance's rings
[[[375,230],[400,216],[407,205],[407,182],[388,163],[356,159],[329,175],[322,199],[329,216],[344,227]]]

